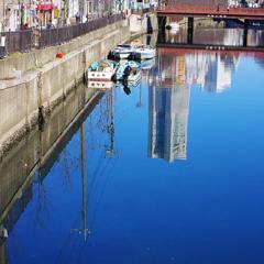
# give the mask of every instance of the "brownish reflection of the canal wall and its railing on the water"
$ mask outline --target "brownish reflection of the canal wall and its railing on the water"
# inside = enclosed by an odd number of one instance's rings
[[[32,198],[32,182],[35,179],[35,173],[38,172],[37,180],[41,183],[58,156],[67,155],[67,152],[62,154],[64,147],[89,117],[100,98],[101,95],[92,95],[91,90],[79,85],[46,117],[42,131],[37,127],[32,128],[30,133],[26,133],[2,157],[0,226],[2,223],[10,228],[14,218],[9,218],[9,213],[18,217],[23,212],[24,206]],[[62,172],[62,177],[66,177],[65,174],[67,172]]]

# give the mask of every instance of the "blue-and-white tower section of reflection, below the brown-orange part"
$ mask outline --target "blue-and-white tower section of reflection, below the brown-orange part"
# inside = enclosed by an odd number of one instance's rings
[[[148,156],[167,162],[187,157],[188,85],[148,90]]]

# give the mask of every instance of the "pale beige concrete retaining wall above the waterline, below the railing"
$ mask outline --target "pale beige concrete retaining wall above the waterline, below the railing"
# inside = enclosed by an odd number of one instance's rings
[[[0,157],[36,123],[38,107],[45,112],[53,109],[79,82],[92,61],[129,38],[129,28],[118,22],[72,43],[2,61],[1,70],[10,73],[14,67],[22,70],[22,78],[0,81]],[[66,55],[54,61],[59,51]]]

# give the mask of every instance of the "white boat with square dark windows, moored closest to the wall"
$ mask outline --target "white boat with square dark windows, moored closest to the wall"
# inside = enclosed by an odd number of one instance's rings
[[[87,74],[87,79],[94,81],[109,81],[112,80],[113,75],[117,72],[118,64],[103,59],[100,62],[94,62],[89,68]]]

